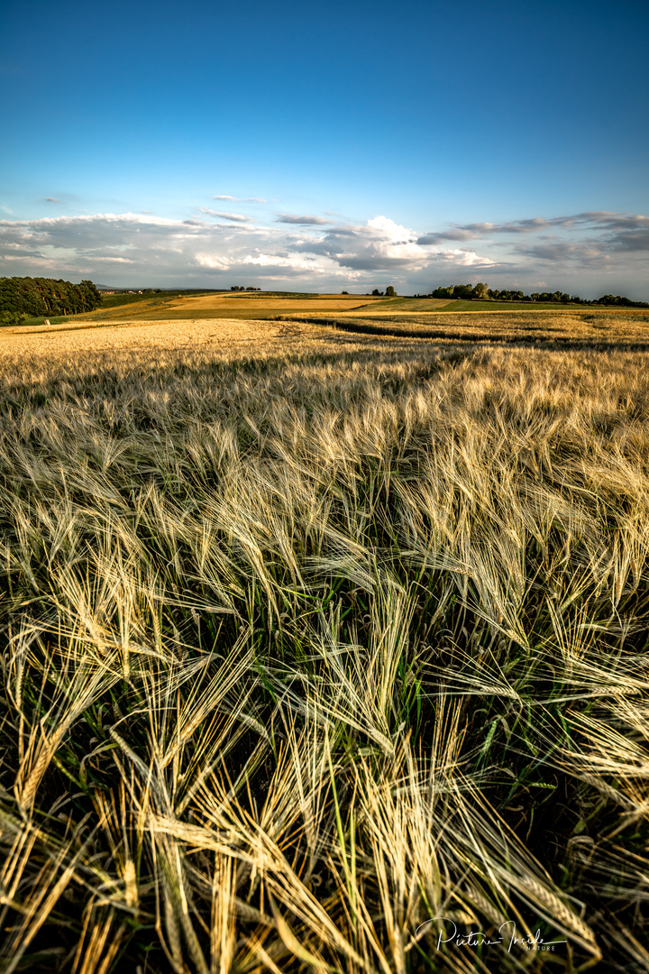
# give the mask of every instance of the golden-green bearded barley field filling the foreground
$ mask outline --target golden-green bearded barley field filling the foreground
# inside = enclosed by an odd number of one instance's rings
[[[649,969],[649,351],[523,318],[4,330],[4,974]]]

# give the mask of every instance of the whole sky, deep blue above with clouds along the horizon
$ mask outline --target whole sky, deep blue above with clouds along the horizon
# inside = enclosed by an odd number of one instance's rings
[[[649,299],[649,6],[41,0],[0,23],[0,274]]]

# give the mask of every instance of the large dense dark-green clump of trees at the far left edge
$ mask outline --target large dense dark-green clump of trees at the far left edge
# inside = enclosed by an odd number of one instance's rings
[[[0,278],[0,316],[38,318],[78,315],[101,304],[92,281],[72,284],[52,278]]]

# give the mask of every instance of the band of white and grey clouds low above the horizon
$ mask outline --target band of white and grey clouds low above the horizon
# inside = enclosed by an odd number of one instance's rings
[[[347,283],[368,290],[391,282],[407,293],[469,279],[534,289],[544,278],[590,296],[609,289],[607,282],[614,290],[617,282],[618,291],[625,284],[631,297],[649,290],[649,217],[639,214],[593,211],[422,234],[384,215],[335,225],[279,214],[274,225],[261,226],[241,213],[198,212],[227,222],[132,212],[0,220],[0,274],[90,277],[117,286],[243,282],[337,290]]]

